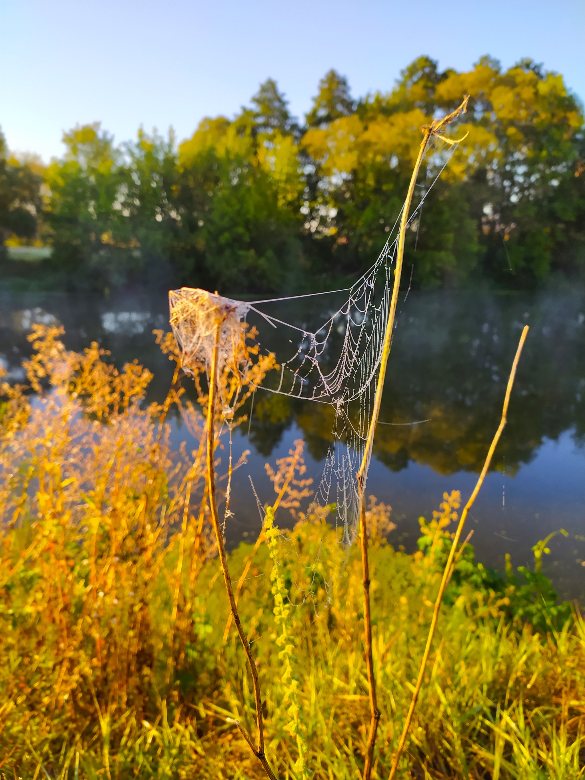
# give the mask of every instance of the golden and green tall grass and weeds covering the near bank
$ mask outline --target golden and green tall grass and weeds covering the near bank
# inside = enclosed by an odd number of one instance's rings
[[[254,732],[254,692],[220,587],[200,415],[177,381],[144,408],[150,374],[115,371],[96,345],[71,353],[37,328],[34,347],[37,395],[1,390],[0,776],[261,778],[236,725]],[[172,403],[193,452],[169,445]],[[301,512],[286,491],[278,503],[291,466],[291,491],[307,492],[297,445],[270,471],[276,498],[260,497],[264,534],[229,570],[276,774],[356,778],[371,720],[360,550],[340,553],[328,510]],[[402,731],[458,503],[445,495],[406,555],[385,540],[389,508],[370,500],[374,777],[388,776]],[[295,527],[278,530],[289,509]],[[584,692],[576,608],[555,605],[538,570],[488,572],[468,544],[399,776],[583,778]]]

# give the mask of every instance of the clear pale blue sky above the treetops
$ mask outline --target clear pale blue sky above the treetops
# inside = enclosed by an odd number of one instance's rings
[[[268,76],[303,115],[329,68],[358,97],[421,54],[458,70],[530,56],[585,97],[585,0],[1,0],[0,14],[0,124],[45,161],[78,122],[182,140]]]

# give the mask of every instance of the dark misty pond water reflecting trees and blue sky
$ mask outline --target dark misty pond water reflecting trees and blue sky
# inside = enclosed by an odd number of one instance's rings
[[[330,296],[270,304],[275,314],[317,330],[337,303]],[[271,307],[271,308],[270,308]],[[33,322],[62,323],[66,345],[91,341],[121,365],[135,357],[154,372],[149,399],[165,396],[172,365],[151,335],[168,328],[166,290],[119,297],[57,293],[0,295],[0,360],[13,378],[30,353]],[[389,541],[416,548],[418,518],[438,509],[444,491],[473,490],[502,413],[505,385],[524,324],[530,333],[519,363],[508,424],[469,520],[477,558],[503,569],[533,563],[531,547],[564,528],[549,545],[543,571],[561,597],[585,602],[585,291],[541,293],[411,292],[399,305],[368,494],[392,505]],[[278,345],[276,346],[278,349]],[[278,357],[278,352],[277,352]],[[419,422],[425,420],[424,422]],[[417,424],[410,424],[410,423]],[[180,419],[172,441],[190,444]],[[264,463],[306,443],[308,476],[318,483],[331,433],[321,405],[259,392],[250,424],[236,429],[234,455],[250,449],[235,474],[229,544],[260,530],[261,502],[271,500]],[[227,453],[222,459],[227,458]],[[225,463],[224,463],[225,465]],[[280,518],[284,524],[285,513]]]

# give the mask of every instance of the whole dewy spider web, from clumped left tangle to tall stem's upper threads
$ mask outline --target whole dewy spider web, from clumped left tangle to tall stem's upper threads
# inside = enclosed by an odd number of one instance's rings
[[[444,164],[431,186],[427,187],[424,196],[434,186],[450,156],[451,154],[441,160]],[[424,197],[413,209],[409,225],[417,217],[423,203]],[[392,267],[395,264],[399,237],[396,227],[401,216],[402,212],[396,218],[378,260],[349,289],[251,303],[204,293],[215,305],[223,305],[229,310],[232,319],[244,321],[250,312],[261,317],[267,331],[261,333],[260,343],[263,349],[267,349],[266,342],[278,342],[278,349],[274,351],[280,366],[280,377],[274,387],[264,385],[265,390],[329,407],[328,410],[323,409],[323,415],[324,420],[331,420],[331,440],[317,499],[323,505],[335,503],[336,523],[338,527],[342,526],[342,538],[346,544],[352,543],[359,522],[360,488],[356,474],[366,452],[394,281]],[[202,291],[189,288],[169,293],[171,322],[183,354],[193,353],[193,349],[200,350],[205,343],[204,351],[208,359],[210,346],[208,341],[205,342],[205,338],[209,339],[209,334],[200,334],[200,328],[196,324],[197,317],[190,317],[189,306],[186,306],[190,300],[197,299],[200,293]],[[341,307],[328,315],[317,331],[285,322],[262,310],[265,304],[299,300],[301,297],[316,298],[334,293],[347,293],[346,299]],[[271,331],[271,328],[275,331]],[[228,330],[229,337],[232,338],[233,323]],[[203,339],[200,338],[201,335]],[[283,339],[282,336],[287,338]],[[288,357],[283,354],[286,349],[292,352]]]

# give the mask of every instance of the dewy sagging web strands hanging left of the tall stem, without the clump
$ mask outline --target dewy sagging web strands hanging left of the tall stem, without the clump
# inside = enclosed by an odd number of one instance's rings
[[[351,544],[359,520],[356,473],[365,453],[378,368],[392,292],[395,244],[386,244],[378,261],[346,292],[342,306],[315,332],[299,328],[297,347],[280,359],[280,378],[270,392],[328,405],[331,438],[317,501],[335,503],[343,542]],[[250,310],[280,329],[296,327],[270,317],[254,303]],[[291,341],[293,339],[290,339]],[[278,358],[278,355],[277,355]]]

